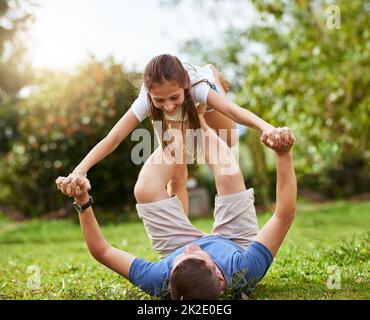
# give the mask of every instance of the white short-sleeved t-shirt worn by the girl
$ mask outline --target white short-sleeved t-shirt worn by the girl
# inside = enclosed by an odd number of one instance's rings
[[[208,80],[211,84],[216,83],[212,73],[212,69],[208,66],[198,67],[193,65],[184,65],[184,68],[188,72],[191,84],[194,84],[200,80]],[[207,103],[209,90],[210,86],[206,82],[201,82],[190,89],[190,94],[194,100],[195,105],[197,105],[197,103]],[[143,121],[150,114],[147,101],[147,90],[144,84],[141,85],[139,96],[131,105],[131,110],[140,122]],[[171,117],[176,118],[177,115]]]

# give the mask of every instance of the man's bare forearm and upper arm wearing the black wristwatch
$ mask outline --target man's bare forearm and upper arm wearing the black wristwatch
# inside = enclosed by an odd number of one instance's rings
[[[81,205],[88,200],[89,195],[87,192],[75,198],[75,201]],[[92,207],[80,213],[79,218],[82,233],[91,255],[109,269],[128,279],[131,264],[136,257],[123,250],[113,248],[108,244],[96,221]]]

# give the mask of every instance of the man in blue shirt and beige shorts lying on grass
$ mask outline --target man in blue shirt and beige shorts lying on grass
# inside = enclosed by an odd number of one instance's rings
[[[295,137],[289,128],[261,136],[276,153],[277,199],[274,214],[259,232],[253,189],[245,188],[228,146],[204,121],[202,128],[208,136],[205,159],[217,187],[211,234],[196,229],[178,197],[168,195],[166,186],[176,163],[162,148],[144,164],[135,186],[139,217],[161,257],[157,262],[110,246],[94,217],[88,192],[81,192],[84,186],[77,184],[71,191],[66,177],[56,180],[58,189],[74,196],[82,206],[80,222],[91,255],[154,295],[169,290],[173,299],[218,299],[225,289],[250,291],[267,272],[295,216],[297,188],[291,150]],[[267,143],[268,138],[273,146]],[[212,150],[220,150],[218,154],[222,155],[217,163],[210,161]]]

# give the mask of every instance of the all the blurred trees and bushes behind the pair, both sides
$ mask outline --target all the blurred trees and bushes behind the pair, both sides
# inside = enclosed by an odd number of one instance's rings
[[[229,28],[219,45],[193,39],[183,44],[184,53],[225,73],[240,106],[293,129],[301,194],[332,199],[369,192],[370,1],[252,3],[253,23]],[[0,205],[37,216],[70,205],[56,192],[56,177],[72,171],[129,109],[140,74],[93,56],[73,73],[32,70],[19,39],[33,17],[15,10],[28,5],[0,2]],[[331,5],[340,8],[339,29],[328,25]],[[22,88],[31,93],[22,97]],[[252,159],[241,164],[257,204],[266,207],[275,173],[258,138],[253,130],[241,138],[241,157]],[[134,205],[140,167],[130,152],[136,143],[128,137],[89,172],[101,205]],[[214,193],[203,168],[192,172]]]

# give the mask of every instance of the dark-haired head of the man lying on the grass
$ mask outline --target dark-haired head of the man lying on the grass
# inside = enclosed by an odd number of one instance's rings
[[[225,287],[222,272],[199,246],[189,244],[175,258],[169,282],[172,299],[218,299]]]

